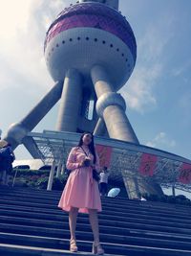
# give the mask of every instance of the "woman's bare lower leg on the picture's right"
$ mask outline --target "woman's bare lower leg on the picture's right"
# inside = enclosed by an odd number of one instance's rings
[[[95,244],[99,244],[99,228],[98,228],[98,217],[95,209],[89,209],[89,220],[92,226]]]

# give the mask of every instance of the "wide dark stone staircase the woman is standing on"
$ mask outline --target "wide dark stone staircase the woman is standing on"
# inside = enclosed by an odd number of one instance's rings
[[[92,255],[87,215],[76,229],[80,253],[69,252],[68,215],[60,192],[0,188],[0,255]],[[106,255],[191,256],[191,207],[103,198],[100,240]]]

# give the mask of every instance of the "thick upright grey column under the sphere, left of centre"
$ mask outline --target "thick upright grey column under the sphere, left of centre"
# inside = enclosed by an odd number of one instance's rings
[[[56,129],[76,132],[82,98],[82,78],[75,69],[65,77]]]

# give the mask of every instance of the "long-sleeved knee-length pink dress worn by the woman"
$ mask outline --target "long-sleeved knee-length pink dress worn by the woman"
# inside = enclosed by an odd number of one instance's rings
[[[80,213],[89,213],[89,209],[101,211],[101,200],[98,183],[93,178],[92,167],[80,167],[79,163],[86,157],[80,147],[75,147],[69,154],[66,167],[71,170],[58,207],[69,212],[71,207],[79,208]],[[94,155],[89,154],[94,160]],[[96,170],[99,170],[99,159],[96,154]]]

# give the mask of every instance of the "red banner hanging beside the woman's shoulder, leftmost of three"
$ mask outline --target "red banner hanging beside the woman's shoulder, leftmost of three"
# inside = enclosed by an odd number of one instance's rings
[[[106,166],[109,168],[112,156],[112,148],[103,145],[96,145],[96,151],[99,156],[100,167],[103,168]]]

